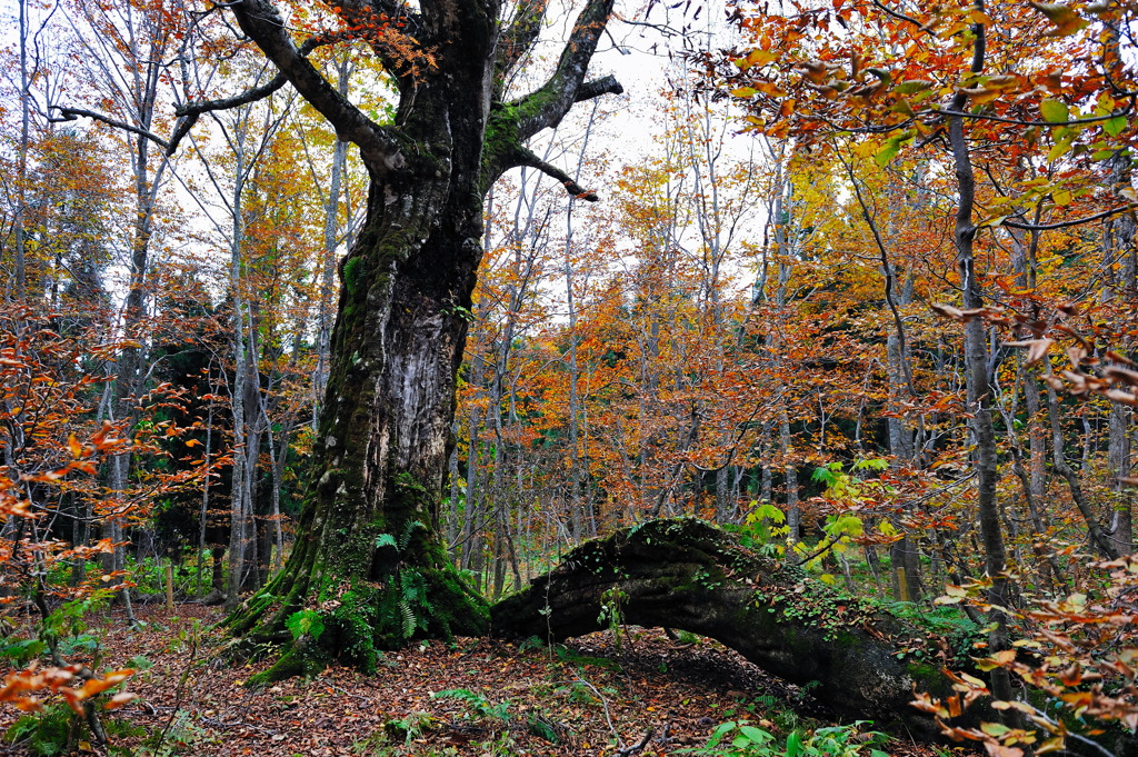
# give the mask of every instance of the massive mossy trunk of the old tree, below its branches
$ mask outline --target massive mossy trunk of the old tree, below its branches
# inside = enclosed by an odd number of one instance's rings
[[[289,615],[335,604],[320,641],[365,669],[376,649],[478,634],[486,623],[484,601],[453,571],[436,532],[463,314],[481,257],[481,194],[469,178],[437,179],[435,159],[409,163],[372,167],[366,228],[341,268],[300,536],[281,576],[231,618],[234,633],[286,640]],[[393,195],[401,199],[388,203]],[[308,660],[287,655],[271,677],[297,664]]]

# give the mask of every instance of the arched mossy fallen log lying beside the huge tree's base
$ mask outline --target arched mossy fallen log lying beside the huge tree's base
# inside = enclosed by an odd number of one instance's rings
[[[564,640],[612,623],[716,639],[851,718],[935,738],[914,686],[947,693],[920,631],[754,554],[693,519],[654,520],[575,549],[490,610],[492,634]],[[906,651],[909,650],[909,651]]]

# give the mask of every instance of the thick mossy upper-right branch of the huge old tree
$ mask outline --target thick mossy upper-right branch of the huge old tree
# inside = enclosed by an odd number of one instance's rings
[[[611,13],[612,0],[589,0],[574,24],[572,34],[561,51],[553,75],[538,90],[512,104],[518,106],[518,113],[521,114],[518,121],[520,142],[559,124],[577,101],[588,71],[588,61]]]

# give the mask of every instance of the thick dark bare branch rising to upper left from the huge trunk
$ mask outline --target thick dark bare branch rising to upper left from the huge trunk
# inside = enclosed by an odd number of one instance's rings
[[[292,43],[277,8],[269,0],[241,0],[229,6],[238,25],[277,65],[296,91],[316,108],[345,142],[354,142],[364,159],[378,161],[395,148],[382,127],[336,91]]]

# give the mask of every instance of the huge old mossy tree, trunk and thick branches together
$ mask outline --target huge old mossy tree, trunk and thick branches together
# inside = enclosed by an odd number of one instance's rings
[[[585,81],[611,0],[589,0],[546,83],[510,101],[502,82],[536,42],[545,2],[522,2],[505,28],[493,0],[423,0],[419,13],[380,0],[336,6],[348,24],[370,26],[379,14],[410,35],[398,46],[368,40],[399,89],[391,125],[372,122],[308,61],[327,40],[295,43],[267,0],[228,6],[280,69],[274,83],[291,83],[357,145],[370,175],[364,228],[340,265],[296,545],[282,573],[228,620],[246,643],[292,640],[266,680],[316,669],[328,657],[369,669],[378,649],[485,631],[486,602],[451,567],[438,528],[483,197],[519,165],[586,195],[523,142],[574,102],[620,91],[611,77]],[[409,51],[412,38],[422,54]]]

